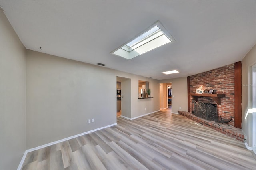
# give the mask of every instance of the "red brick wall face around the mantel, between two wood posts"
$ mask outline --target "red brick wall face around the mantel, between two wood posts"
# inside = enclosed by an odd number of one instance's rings
[[[213,93],[226,95],[221,98],[221,105],[217,105],[218,114],[221,117],[233,117],[230,125],[234,126],[234,64],[190,76],[190,93],[196,93],[200,86],[203,90],[214,89]],[[198,101],[216,104],[211,97],[198,97]]]

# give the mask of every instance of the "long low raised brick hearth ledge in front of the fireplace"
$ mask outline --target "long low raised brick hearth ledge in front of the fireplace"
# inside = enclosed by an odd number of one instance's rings
[[[241,142],[245,142],[246,140],[246,136],[244,134],[244,132],[239,129],[239,128],[235,128],[233,126],[228,126],[225,124],[220,124],[220,126],[218,124],[214,124],[214,121],[206,121],[205,119],[196,117],[195,115],[193,115],[190,112],[184,112],[184,111],[178,111],[178,113],[180,115],[183,115],[189,119],[192,119],[204,126],[210,127],[218,132],[221,132],[223,134],[226,134],[227,136],[230,136],[236,140],[239,140]]]

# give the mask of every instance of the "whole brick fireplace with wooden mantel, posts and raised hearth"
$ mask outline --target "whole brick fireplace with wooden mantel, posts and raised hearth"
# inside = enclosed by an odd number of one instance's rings
[[[246,136],[241,130],[242,122],[242,64],[241,61],[226,65],[217,69],[199,73],[187,77],[188,82],[188,112],[178,111],[202,125],[208,126],[244,142]],[[214,89],[212,94],[198,94],[196,89],[202,86],[202,90]],[[217,125],[214,121],[206,120],[204,113],[198,117],[192,113],[195,102],[210,103],[217,106],[217,114],[221,117],[232,117],[229,125]],[[202,115],[202,113],[200,113]],[[207,113],[206,113],[207,115]]]

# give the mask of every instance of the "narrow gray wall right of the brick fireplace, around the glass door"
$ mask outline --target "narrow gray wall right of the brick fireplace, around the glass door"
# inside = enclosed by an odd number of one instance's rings
[[[256,45],[242,60],[242,130],[247,136],[246,143],[252,147],[252,66],[256,64]]]

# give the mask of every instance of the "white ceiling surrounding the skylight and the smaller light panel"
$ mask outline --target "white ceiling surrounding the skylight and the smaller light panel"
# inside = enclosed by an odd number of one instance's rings
[[[255,0],[0,3],[26,49],[158,80],[241,61],[256,44]],[[110,54],[157,20],[175,43],[131,60]],[[180,73],[161,73],[173,69]]]

